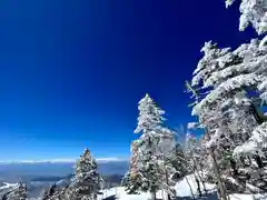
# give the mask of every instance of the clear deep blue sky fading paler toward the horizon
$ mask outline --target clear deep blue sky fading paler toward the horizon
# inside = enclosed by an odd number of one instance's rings
[[[210,39],[237,47],[224,0],[2,0],[0,160],[129,154],[137,102],[191,120],[184,93]]]

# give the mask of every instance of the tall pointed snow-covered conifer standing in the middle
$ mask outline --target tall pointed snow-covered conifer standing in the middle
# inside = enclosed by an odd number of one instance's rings
[[[169,177],[176,171],[166,162],[166,157],[169,157],[168,153],[175,148],[175,142],[171,131],[164,128],[165,111],[157,107],[148,94],[139,101],[138,110],[138,126],[135,133],[141,136],[134,143],[136,152],[131,164],[134,174],[141,179],[140,189],[150,191],[152,200],[156,199],[159,189],[175,197]]]

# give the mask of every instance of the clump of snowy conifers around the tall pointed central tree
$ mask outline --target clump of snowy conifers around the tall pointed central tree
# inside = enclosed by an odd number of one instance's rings
[[[165,111],[148,94],[139,101],[139,117],[135,133],[141,136],[131,143],[130,169],[122,186],[129,193],[149,191],[151,199],[164,190],[168,199],[176,198],[175,184],[186,174],[186,159],[176,141],[175,132],[167,128]]]

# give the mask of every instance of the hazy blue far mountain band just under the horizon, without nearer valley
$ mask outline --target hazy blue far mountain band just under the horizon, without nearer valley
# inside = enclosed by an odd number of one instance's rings
[[[99,172],[103,176],[123,174],[128,160],[98,160]],[[75,161],[0,162],[0,182],[32,181],[36,177],[55,179],[73,173]]]

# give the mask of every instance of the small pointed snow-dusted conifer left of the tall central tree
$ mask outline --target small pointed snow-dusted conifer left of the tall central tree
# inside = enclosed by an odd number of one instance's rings
[[[82,200],[97,199],[97,193],[101,189],[101,179],[97,171],[98,164],[86,149],[76,164],[75,190]]]

